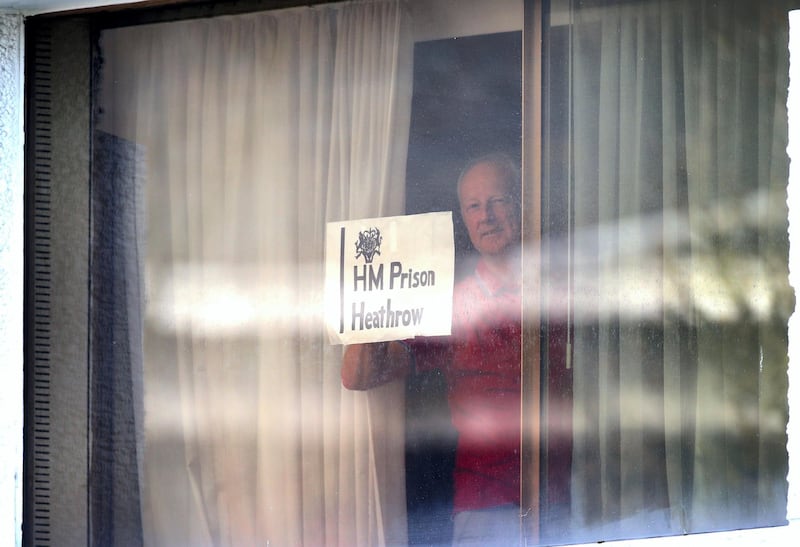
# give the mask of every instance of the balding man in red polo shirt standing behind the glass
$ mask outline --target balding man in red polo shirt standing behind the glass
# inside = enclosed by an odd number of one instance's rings
[[[519,175],[505,155],[474,160],[458,181],[461,216],[480,254],[453,292],[448,338],[358,344],[345,350],[342,382],[369,389],[441,368],[458,432],[454,545],[508,545],[519,537]]]

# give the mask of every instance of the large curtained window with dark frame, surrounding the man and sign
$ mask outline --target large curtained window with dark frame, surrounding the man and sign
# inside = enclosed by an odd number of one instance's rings
[[[449,543],[452,386],[342,386],[325,228],[453,211],[458,281],[496,152],[520,540],[785,524],[794,3],[308,4],[28,19],[24,541]]]

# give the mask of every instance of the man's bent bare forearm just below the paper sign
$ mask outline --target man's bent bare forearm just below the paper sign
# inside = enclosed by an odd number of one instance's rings
[[[411,370],[411,354],[402,342],[374,342],[347,346],[342,360],[342,385],[370,389],[404,377]]]

